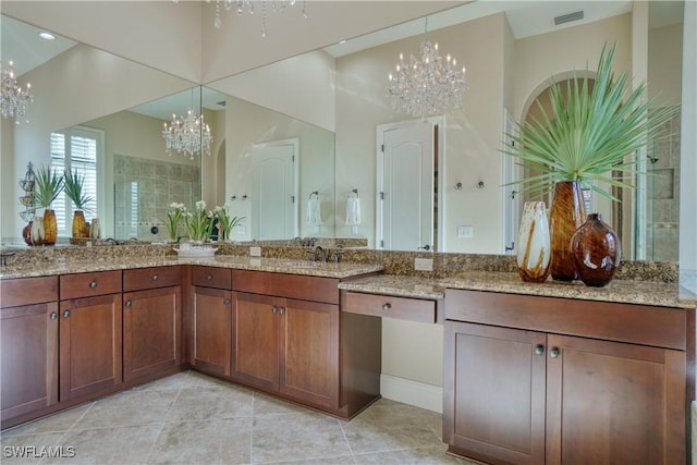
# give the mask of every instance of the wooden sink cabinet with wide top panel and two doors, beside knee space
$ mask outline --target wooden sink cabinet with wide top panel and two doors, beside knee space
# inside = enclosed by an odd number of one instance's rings
[[[232,283],[232,379],[339,409],[338,280],[233,270]]]

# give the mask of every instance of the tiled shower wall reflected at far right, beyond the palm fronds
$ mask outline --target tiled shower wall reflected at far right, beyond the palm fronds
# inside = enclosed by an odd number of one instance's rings
[[[647,170],[653,175],[647,180],[647,258],[677,261],[680,113],[661,127],[648,155]]]

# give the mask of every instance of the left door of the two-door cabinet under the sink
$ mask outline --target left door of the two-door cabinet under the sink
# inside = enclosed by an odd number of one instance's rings
[[[235,292],[232,377],[267,391],[279,389],[279,299]]]

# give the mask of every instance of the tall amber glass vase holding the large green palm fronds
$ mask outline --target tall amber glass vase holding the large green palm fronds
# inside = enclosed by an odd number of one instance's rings
[[[571,240],[585,221],[586,208],[580,184],[577,181],[557,183],[549,215],[552,244],[550,272],[553,280],[578,279],[574,255],[571,252]]]

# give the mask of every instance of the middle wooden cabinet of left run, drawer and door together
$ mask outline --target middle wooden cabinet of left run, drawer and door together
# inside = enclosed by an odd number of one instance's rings
[[[123,382],[121,274],[102,271],[59,279],[61,402]]]

